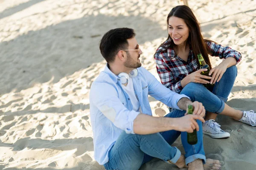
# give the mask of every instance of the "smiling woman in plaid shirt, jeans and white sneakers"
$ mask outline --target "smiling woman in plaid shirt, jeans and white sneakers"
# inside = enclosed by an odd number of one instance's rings
[[[204,40],[200,25],[188,6],[172,8],[167,17],[167,26],[168,38],[154,54],[157,73],[162,84],[170,90],[203,103],[207,110],[203,133],[216,139],[230,137],[215,122],[218,114],[255,126],[254,111],[239,111],[225,103],[236,79],[236,64],[241,60],[241,54],[230,47]],[[200,74],[206,71],[199,69],[197,54],[200,53],[211,69],[209,76]],[[208,55],[224,60],[212,68]],[[204,87],[207,83],[215,84],[212,91]]]

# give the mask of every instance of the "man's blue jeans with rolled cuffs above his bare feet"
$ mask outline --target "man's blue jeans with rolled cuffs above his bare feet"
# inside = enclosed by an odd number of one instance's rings
[[[165,117],[182,117],[186,111],[175,109],[168,113]],[[203,146],[202,122],[198,121],[198,143],[190,145],[187,143],[187,133],[176,130],[169,130],[161,133],[149,135],[127,134],[123,132],[116,143],[110,150],[109,161],[104,164],[107,170],[138,170],[142,164],[150,161],[154,157],[163,159],[164,161],[171,160],[176,163],[180,158],[180,150],[177,147],[172,147],[171,144],[181,134],[181,141],[186,152],[186,164],[202,159],[205,163],[205,153]]]

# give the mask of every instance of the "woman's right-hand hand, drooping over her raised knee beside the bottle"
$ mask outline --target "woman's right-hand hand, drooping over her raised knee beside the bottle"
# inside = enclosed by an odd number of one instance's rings
[[[217,67],[212,68],[209,72],[209,75],[212,75],[211,84],[214,84],[216,81],[219,82],[221,77],[227,70],[227,65],[221,62]]]

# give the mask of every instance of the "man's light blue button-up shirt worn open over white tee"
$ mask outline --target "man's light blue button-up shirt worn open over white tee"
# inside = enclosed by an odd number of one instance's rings
[[[170,91],[145,68],[137,70],[138,75],[132,80],[142,113],[152,116],[148,95],[175,109],[179,109],[177,102],[182,97],[189,98]],[[107,64],[90,89],[94,158],[99,164],[108,162],[109,151],[123,131],[134,134],[133,122],[139,113],[133,111],[131,99],[122,88],[120,79],[110,71]]]

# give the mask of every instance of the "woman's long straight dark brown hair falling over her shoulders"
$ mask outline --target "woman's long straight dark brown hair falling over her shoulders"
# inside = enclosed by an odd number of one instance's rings
[[[187,40],[187,43],[191,45],[192,51],[194,53],[195,59],[199,65],[198,57],[196,57],[197,54],[201,53],[204,57],[205,62],[209,65],[209,67],[212,69],[212,65],[209,60],[208,54],[210,54],[209,48],[206,44],[207,41],[211,40],[204,40],[202,34],[201,34],[201,28],[198,23],[198,20],[196,19],[195,15],[193,14],[192,10],[188,6],[176,6],[175,8],[172,8],[170,13],[167,16],[167,28],[169,24],[169,18],[170,17],[178,17],[184,20],[187,27],[189,28],[189,37]],[[178,54],[178,47],[173,42],[171,36],[168,34],[168,38],[165,42],[163,42],[160,47],[163,47],[163,49],[174,49],[175,53]]]

